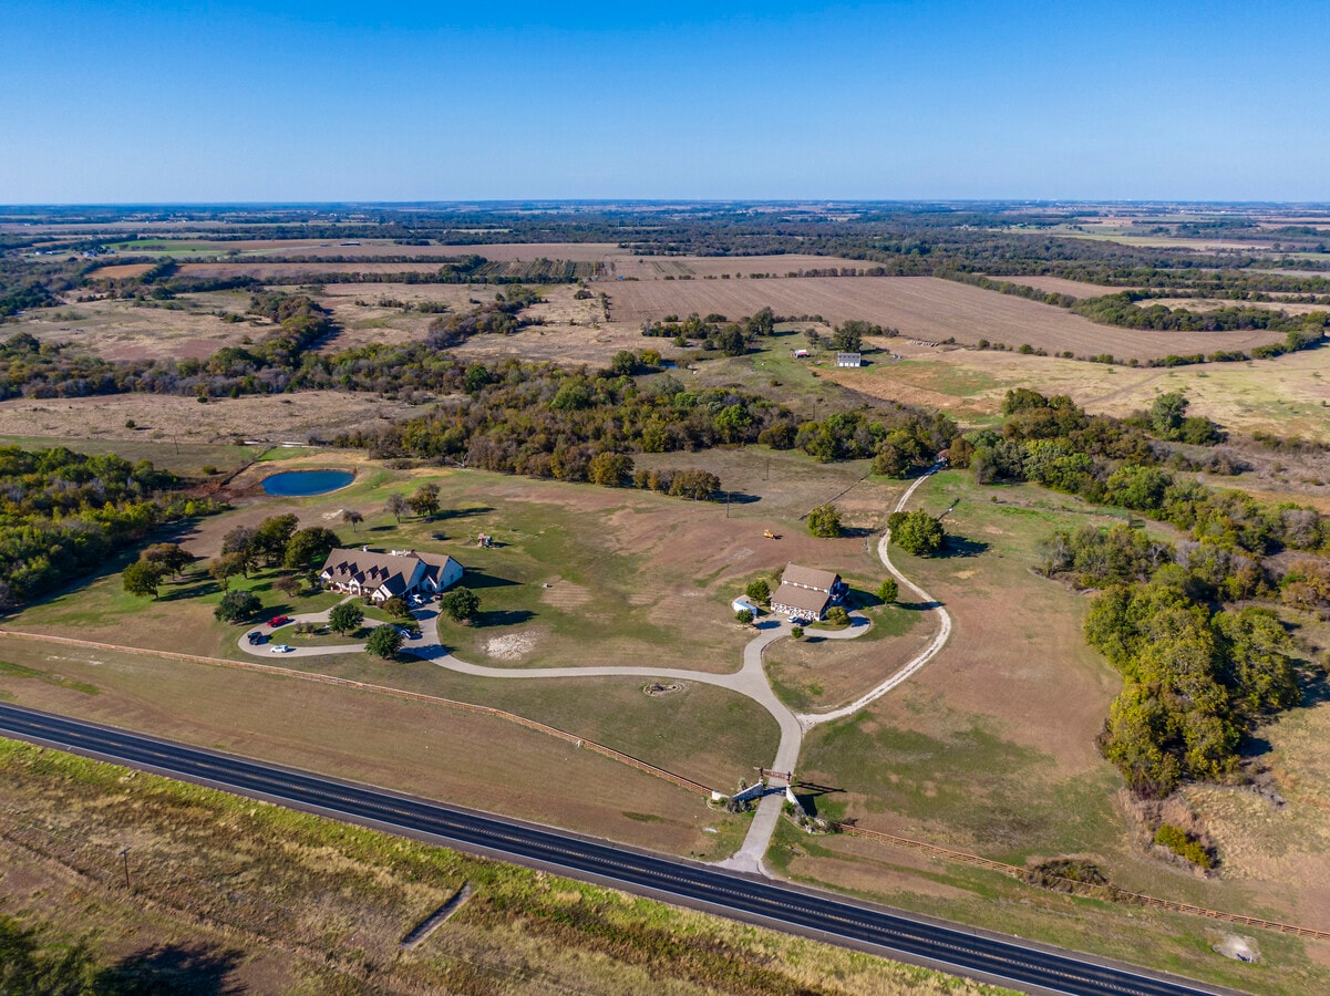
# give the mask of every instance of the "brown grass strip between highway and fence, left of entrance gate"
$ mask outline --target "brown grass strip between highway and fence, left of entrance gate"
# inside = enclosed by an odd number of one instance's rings
[[[673,854],[713,854],[698,797],[473,713],[182,661],[0,638],[0,660],[98,690],[0,674],[21,705]],[[422,665],[428,666],[428,665]],[[638,695],[649,703],[645,695]],[[576,786],[576,791],[569,787]],[[630,802],[630,805],[629,805]],[[660,819],[637,820],[624,811]],[[721,855],[724,856],[724,855]]]

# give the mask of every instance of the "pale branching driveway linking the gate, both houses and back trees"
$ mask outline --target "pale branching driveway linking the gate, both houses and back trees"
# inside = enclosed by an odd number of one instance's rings
[[[900,500],[896,501],[894,511],[903,511],[915,489],[939,468],[940,464],[932,467],[928,473],[915,480],[915,483],[911,484],[900,496]],[[729,689],[730,691],[737,691],[741,695],[747,695],[771,714],[781,729],[781,742],[775,749],[775,759],[771,762],[771,769],[775,771],[794,771],[799,761],[799,749],[803,745],[803,734],[806,730],[811,730],[818,723],[853,715],[868,703],[882,698],[884,694],[891,691],[891,689],[911,678],[919,672],[920,668],[936,657],[951,636],[951,616],[940,602],[934,601],[927,592],[896,569],[896,566],[891,562],[888,552],[890,543],[891,531],[888,529],[878,543],[878,556],[882,559],[887,570],[890,570],[907,590],[912,592],[920,601],[932,604],[932,612],[938,613],[940,620],[938,634],[932,638],[928,646],[923,649],[923,652],[920,652],[914,660],[906,664],[900,670],[883,681],[880,685],[864,693],[850,705],[826,713],[794,713],[783,702],[781,702],[781,699],[775,697],[775,691],[771,690],[771,684],[767,681],[766,672],[762,668],[762,652],[781,637],[789,636],[791,629],[789,621],[778,618],[766,618],[755,625],[758,634],[743,648],[743,666],[730,674],[713,674],[710,672],[693,672],[680,668],[621,665],[601,668],[489,668],[479,664],[468,664],[450,654],[447,648],[443,646],[443,642],[439,638],[439,612],[432,606],[415,610],[414,614],[416,621],[420,624],[420,640],[403,646],[402,652],[414,657],[420,657],[426,661],[432,661],[440,668],[447,668],[448,670],[458,672],[459,674],[473,674],[480,678],[501,678],[505,681],[529,678],[605,677],[677,678],[680,681],[696,681],[705,685],[716,685],[717,687]],[[293,621],[327,622],[329,612],[330,610],[323,610],[295,616],[293,617]],[[851,614],[849,629],[819,632],[818,636],[825,640],[853,640],[863,633],[867,633],[870,626],[871,622],[868,618],[862,613],[855,612]],[[261,629],[267,630],[267,626],[262,626]],[[247,654],[253,654],[254,657],[269,657],[271,654],[270,645],[250,646],[247,633],[249,630],[239,637],[239,649]],[[359,653],[363,649],[364,644],[302,646],[281,656],[317,657],[321,654]],[[767,872],[762,866],[762,858],[766,854],[766,850],[771,843],[771,836],[775,834],[775,827],[779,823],[781,809],[785,805],[785,793],[781,790],[786,787],[783,785],[783,779],[773,779],[773,782],[779,783],[773,785],[774,791],[763,795],[758,803],[757,812],[753,816],[753,823],[749,826],[749,832],[743,839],[743,846],[732,858],[718,862],[717,864],[720,867],[770,875],[770,872]]]

